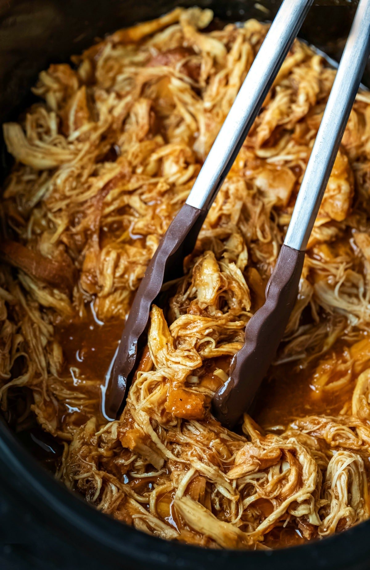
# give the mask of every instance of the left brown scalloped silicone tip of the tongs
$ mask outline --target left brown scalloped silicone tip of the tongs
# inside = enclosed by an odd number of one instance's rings
[[[105,416],[114,419],[122,408],[137,360],[137,347],[145,333],[151,304],[162,284],[183,274],[183,260],[194,249],[205,211],[184,204],[159,243],[134,298],[103,402]]]

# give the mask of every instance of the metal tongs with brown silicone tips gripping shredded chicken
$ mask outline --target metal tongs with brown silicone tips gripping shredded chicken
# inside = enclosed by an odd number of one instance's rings
[[[183,259],[194,249],[208,210],[264,103],[312,2],[313,0],[284,0],[282,3],[186,203],[171,222],[147,267],[106,385],[103,406],[108,418],[116,418],[125,404],[151,304],[158,301],[163,283],[182,275]],[[213,396],[212,412],[227,427],[233,427],[249,408],[276,355],[297,298],[307,242],[369,50],[370,0],[360,0],[285,241],[266,287],[265,304],[249,320],[245,344],[231,361],[229,378]]]

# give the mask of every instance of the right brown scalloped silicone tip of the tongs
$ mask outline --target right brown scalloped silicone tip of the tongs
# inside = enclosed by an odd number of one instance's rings
[[[265,304],[245,329],[245,344],[233,357],[230,377],[212,399],[214,416],[232,428],[248,410],[272,363],[297,298],[304,251],[283,245],[266,287]]]

